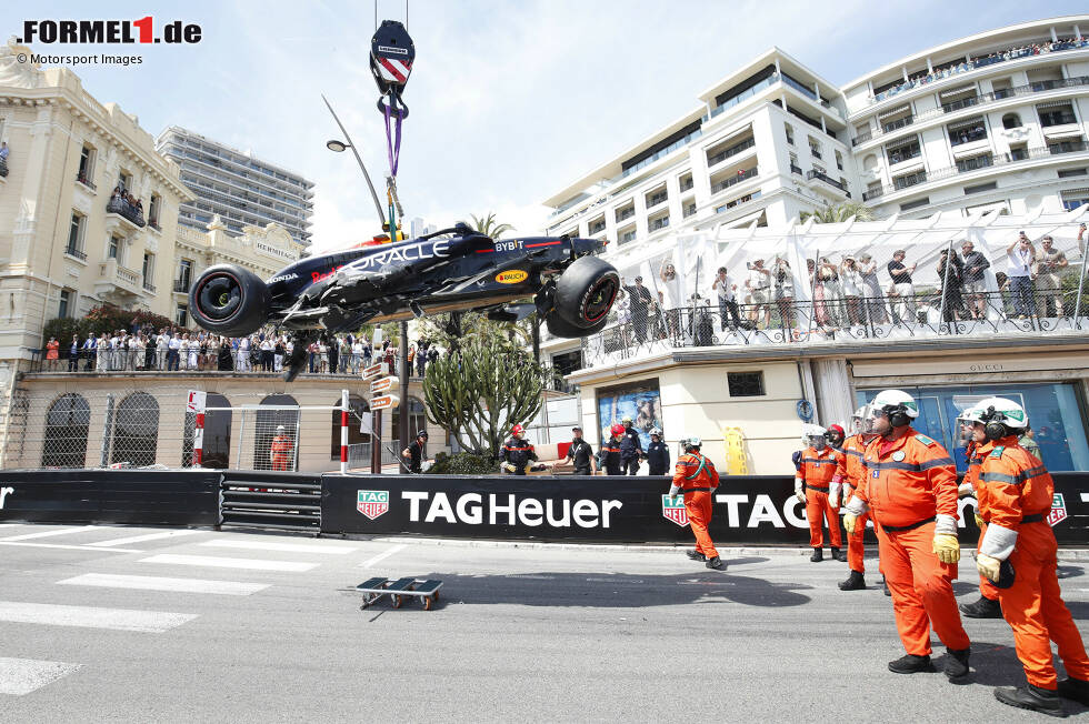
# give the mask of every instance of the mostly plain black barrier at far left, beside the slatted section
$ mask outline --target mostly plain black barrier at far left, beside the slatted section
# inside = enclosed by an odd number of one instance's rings
[[[0,471],[0,521],[217,525],[219,471]]]

